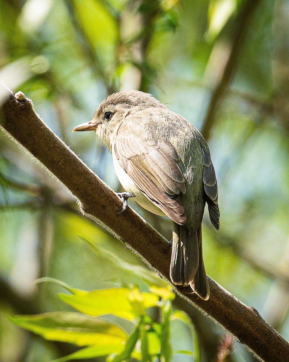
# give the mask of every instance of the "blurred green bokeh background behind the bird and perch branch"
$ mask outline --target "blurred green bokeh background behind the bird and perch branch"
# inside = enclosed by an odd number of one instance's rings
[[[207,274],[289,338],[289,1],[0,0],[0,80],[35,110],[109,186],[112,159],[92,132],[71,133],[121,89],[152,93],[206,138],[219,185],[220,231],[205,211]],[[0,84],[0,102],[7,97]],[[136,208],[134,206],[134,208]],[[171,222],[137,209],[168,240]],[[49,276],[81,289],[135,283],[79,236],[142,261],[81,216],[73,196],[0,132],[0,361],[51,361],[51,344],[7,319],[67,310]],[[176,299],[198,332],[202,361],[226,333]],[[178,349],[193,348],[185,327]],[[253,361],[234,343],[228,361]],[[194,361],[178,355],[174,361]]]

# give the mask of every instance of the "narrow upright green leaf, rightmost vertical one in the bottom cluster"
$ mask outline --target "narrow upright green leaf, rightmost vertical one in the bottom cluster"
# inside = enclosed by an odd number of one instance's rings
[[[170,343],[171,330],[170,330],[170,316],[172,313],[171,302],[165,302],[163,308],[163,321],[161,323],[160,333],[160,349],[161,355],[164,357],[165,362],[170,362],[172,359],[172,347]]]

